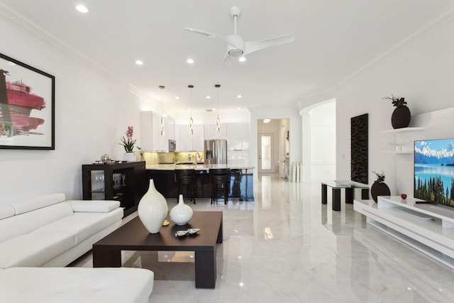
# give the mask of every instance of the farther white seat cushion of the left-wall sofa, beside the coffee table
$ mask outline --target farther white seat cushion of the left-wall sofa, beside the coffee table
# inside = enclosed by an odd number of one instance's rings
[[[123,209],[116,209],[109,213],[74,213],[60,220],[35,229],[32,233],[52,233],[59,231],[74,235],[74,244],[79,244],[86,238],[121,221]]]

